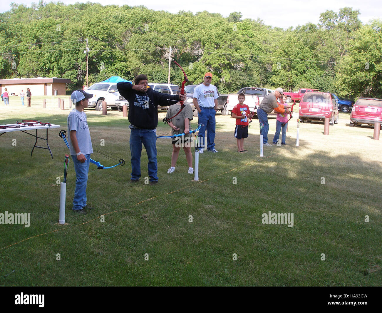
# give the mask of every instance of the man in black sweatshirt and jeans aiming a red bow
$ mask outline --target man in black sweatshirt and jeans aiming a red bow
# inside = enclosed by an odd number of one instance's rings
[[[129,101],[129,128],[131,152],[131,182],[141,177],[142,143],[146,149],[149,163],[150,185],[158,182],[157,131],[158,106],[173,105],[176,101],[186,100],[186,95],[164,94],[149,88],[147,76],[138,75],[134,85],[120,82],[117,89],[121,96]]]

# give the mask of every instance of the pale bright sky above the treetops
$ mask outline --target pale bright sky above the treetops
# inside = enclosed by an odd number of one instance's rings
[[[31,3],[38,3],[39,0],[2,0],[0,3],[0,13],[10,10],[12,2],[26,6]],[[44,1],[44,2],[50,2]],[[53,1],[57,2],[57,1]],[[86,2],[81,0],[60,0],[65,4],[73,4],[76,2]],[[99,0],[90,1],[100,3],[102,5],[141,5],[155,11],[168,11],[170,13],[178,13],[180,10],[191,11],[193,13],[199,11],[209,11],[210,13],[220,13],[223,17],[227,17],[231,12],[241,12],[243,18],[251,18],[256,20],[260,18],[264,24],[272,27],[289,28],[304,25],[308,22],[313,24],[319,23],[320,13],[326,10],[338,12],[340,8],[349,6],[353,10],[359,10],[361,13],[359,19],[366,24],[370,19],[382,18],[382,2],[380,0],[272,0],[253,1],[253,0],[234,0],[234,1],[217,1],[217,0],[191,0],[191,1],[158,1],[145,0],[142,2],[131,0]]]

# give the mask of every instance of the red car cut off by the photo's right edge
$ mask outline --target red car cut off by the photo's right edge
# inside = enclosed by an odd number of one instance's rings
[[[359,98],[351,109],[350,126],[374,126],[375,122],[382,123],[382,99]]]

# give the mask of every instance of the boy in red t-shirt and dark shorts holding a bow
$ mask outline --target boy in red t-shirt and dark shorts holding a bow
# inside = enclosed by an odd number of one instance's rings
[[[238,145],[238,151],[244,153],[244,138],[248,138],[248,117],[252,118],[248,105],[244,104],[245,95],[239,94],[239,103],[232,109],[232,117],[236,118],[235,138]]]

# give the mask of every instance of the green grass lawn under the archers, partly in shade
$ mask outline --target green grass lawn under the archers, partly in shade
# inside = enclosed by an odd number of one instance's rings
[[[9,108],[1,104],[1,123],[38,119],[66,129],[69,109],[57,109],[57,97],[46,109],[43,97],[32,97],[31,108],[14,98]],[[0,213],[31,214],[30,227],[0,224],[0,285],[381,285],[382,143],[372,140],[370,127],[349,127],[350,114],[340,114],[329,136],[323,123],[301,123],[296,147],[295,113],[287,145],[264,147],[262,158],[257,120],[244,140],[248,152],[239,154],[235,120],[217,115],[219,153],[200,155],[200,181],[187,174],[182,151],[175,172],[167,174],[171,139],[158,139],[159,184],[150,186],[143,182],[144,150],[142,178],[129,183],[127,118],[111,110],[86,113],[93,147],[126,165],[90,165],[87,198],[96,210],[78,216],[71,212],[70,160],[66,225],[57,224],[57,177],[63,178],[68,153],[60,129],[49,131],[54,159],[43,149],[31,157],[34,138],[24,133],[0,136]],[[158,134],[170,134],[161,121],[165,112],[159,115]],[[271,119],[269,141],[274,131]],[[92,158],[116,164],[97,153]],[[293,227],[263,224],[269,211],[293,213]]]

